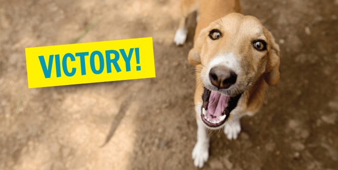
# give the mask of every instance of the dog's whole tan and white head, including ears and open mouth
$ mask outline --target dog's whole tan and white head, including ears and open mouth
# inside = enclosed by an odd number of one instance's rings
[[[279,80],[279,59],[273,36],[255,17],[232,13],[202,29],[189,62],[201,64],[204,124],[221,128],[242,93],[261,76],[274,86]]]

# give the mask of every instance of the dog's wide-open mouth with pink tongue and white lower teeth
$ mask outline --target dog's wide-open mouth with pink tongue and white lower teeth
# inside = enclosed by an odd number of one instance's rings
[[[228,119],[230,112],[237,106],[241,95],[230,97],[204,88],[203,106],[201,108],[203,122],[212,128],[221,126]]]

